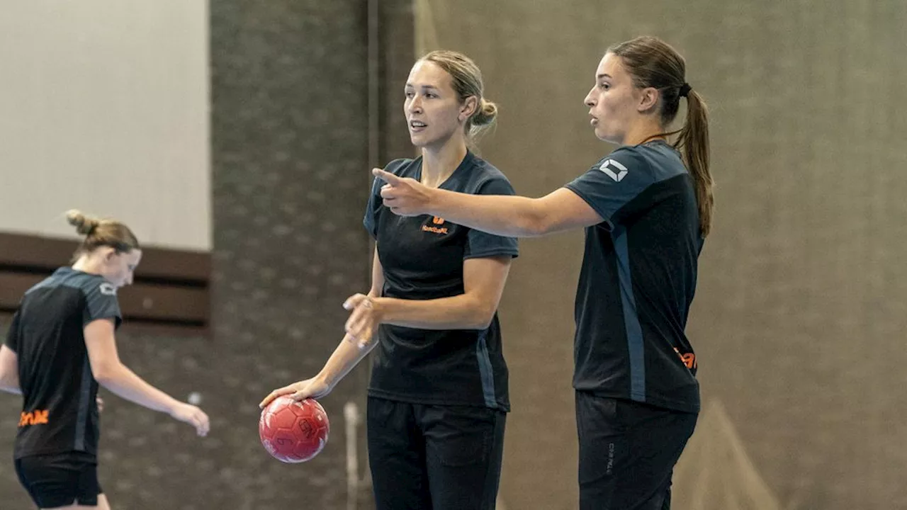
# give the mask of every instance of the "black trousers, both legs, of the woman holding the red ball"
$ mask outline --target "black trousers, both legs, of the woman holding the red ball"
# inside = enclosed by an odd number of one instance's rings
[[[378,510],[493,510],[507,415],[368,397],[368,464]]]

